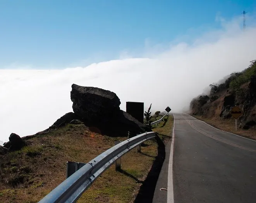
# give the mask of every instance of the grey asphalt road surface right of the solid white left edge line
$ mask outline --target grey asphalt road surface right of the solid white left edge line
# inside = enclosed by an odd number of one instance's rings
[[[256,203],[256,142],[174,116],[174,202]]]

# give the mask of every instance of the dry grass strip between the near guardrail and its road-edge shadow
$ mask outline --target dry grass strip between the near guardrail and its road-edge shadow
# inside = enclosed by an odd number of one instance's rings
[[[112,165],[77,202],[133,202],[157,155],[155,140],[145,144],[142,153],[133,149],[121,158],[121,172],[116,172]]]

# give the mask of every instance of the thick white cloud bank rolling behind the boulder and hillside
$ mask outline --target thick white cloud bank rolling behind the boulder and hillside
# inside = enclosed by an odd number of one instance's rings
[[[152,103],[152,113],[167,105],[172,112],[181,111],[210,83],[256,59],[256,27],[243,31],[241,19],[221,22],[221,30],[206,32],[192,44],[172,43],[164,51],[168,46],[153,46],[161,51],[150,50],[147,58],[129,58],[123,52],[119,60],[87,67],[0,70],[0,140],[8,140],[12,132],[35,134],[72,111],[73,83],[115,92],[122,110],[126,101],[140,101],[145,110]]]

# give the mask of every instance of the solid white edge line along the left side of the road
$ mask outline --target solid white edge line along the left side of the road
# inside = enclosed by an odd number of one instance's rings
[[[174,116],[174,113],[173,113]],[[174,203],[174,184],[172,179],[172,163],[174,156],[174,128],[175,128],[175,117],[174,117],[174,127],[172,128],[172,144],[170,150],[170,157],[168,163],[168,182],[167,182],[167,203]]]

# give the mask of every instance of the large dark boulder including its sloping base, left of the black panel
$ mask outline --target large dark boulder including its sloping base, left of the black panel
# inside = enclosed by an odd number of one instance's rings
[[[151,131],[129,113],[120,110],[120,100],[112,91],[72,85],[70,98],[74,113],[90,129],[110,136],[127,136],[127,132]]]

